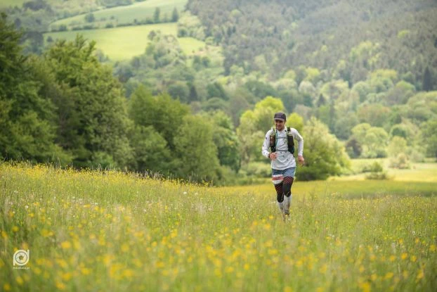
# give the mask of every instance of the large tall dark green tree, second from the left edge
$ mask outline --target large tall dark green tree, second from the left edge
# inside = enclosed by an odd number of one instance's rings
[[[75,166],[91,167],[99,164],[100,158],[108,160],[105,155],[109,155],[122,167],[131,160],[126,136],[130,122],[122,86],[112,68],[98,62],[94,51],[95,43],[86,44],[78,35],[73,42],[56,42],[44,55],[65,92],[56,100],[58,117],[67,122],[58,139],[74,156]]]

